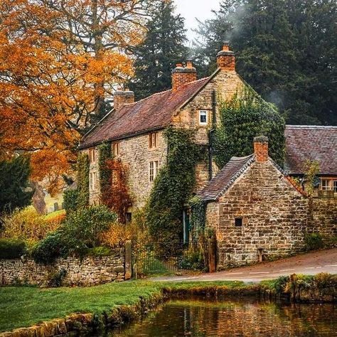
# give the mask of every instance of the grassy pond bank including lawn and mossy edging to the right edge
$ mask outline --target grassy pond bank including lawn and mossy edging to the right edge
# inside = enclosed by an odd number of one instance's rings
[[[144,280],[87,288],[0,287],[0,332],[64,319],[73,313],[96,314],[105,324],[121,323],[183,296],[286,296],[293,301],[337,301],[337,276],[291,275],[260,284],[243,282],[150,282]],[[132,306],[132,307],[131,307]]]

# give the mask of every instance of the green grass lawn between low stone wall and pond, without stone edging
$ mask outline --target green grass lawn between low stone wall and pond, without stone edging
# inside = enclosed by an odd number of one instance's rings
[[[0,331],[32,326],[75,312],[102,314],[121,304],[132,305],[139,296],[151,296],[163,287],[207,287],[210,284],[242,287],[242,282],[128,281],[87,288],[0,287]]]

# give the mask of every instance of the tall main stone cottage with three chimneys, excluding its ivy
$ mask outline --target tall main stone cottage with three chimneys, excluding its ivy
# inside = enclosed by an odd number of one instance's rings
[[[134,92],[114,93],[114,109],[80,142],[80,150],[90,157],[90,203],[100,200],[97,146],[108,142],[115,158],[128,167],[128,187],[134,209],[144,205],[159,169],[165,164],[167,144],[163,131],[169,125],[197,129],[198,144],[209,144],[210,129],[215,126],[217,100],[231,97],[244,84],[235,72],[235,55],[225,43],[218,53],[218,69],[197,80],[191,60],[172,71],[172,88],[134,102]],[[212,158],[197,166],[198,189],[216,170]]]

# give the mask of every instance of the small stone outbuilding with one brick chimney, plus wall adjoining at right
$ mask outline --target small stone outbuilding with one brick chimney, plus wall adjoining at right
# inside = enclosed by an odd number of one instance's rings
[[[337,199],[308,198],[269,158],[267,137],[255,137],[254,154],[232,157],[198,196],[220,269],[299,252],[309,232],[337,235]]]

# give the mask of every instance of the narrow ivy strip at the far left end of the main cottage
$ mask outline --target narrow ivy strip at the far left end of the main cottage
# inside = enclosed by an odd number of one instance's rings
[[[89,156],[81,153],[77,157],[77,207],[89,205]]]

